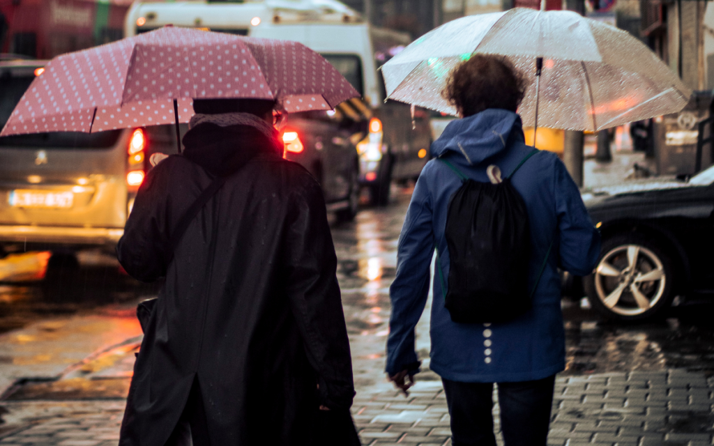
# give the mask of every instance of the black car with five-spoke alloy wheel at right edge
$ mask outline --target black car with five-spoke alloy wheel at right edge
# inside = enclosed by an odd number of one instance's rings
[[[675,296],[714,293],[714,166],[689,181],[633,181],[583,194],[603,235],[583,279],[590,304],[615,320],[653,318]]]

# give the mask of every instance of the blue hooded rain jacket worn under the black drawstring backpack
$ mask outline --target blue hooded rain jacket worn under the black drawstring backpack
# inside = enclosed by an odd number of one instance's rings
[[[490,164],[501,168],[506,177],[532,150],[524,143],[520,116],[488,109],[449,123],[431,145],[431,156],[446,158],[466,176],[486,182]],[[533,308],[508,323],[452,322],[443,305],[444,293],[436,273],[430,368],[448,380],[538,380],[565,368],[558,267],[575,275],[592,272],[600,253],[600,234],[590,221],[578,186],[555,153],[535,153],[512,182],[528,208],[532,243],[529,289],[535,285],[551,243],[553,248],[533,295]],[[399,237],[396,278],[390,288],[392,313],[386,361],[390,375],[416,363],[414,329],[426,305],[435,242],[443,286],[448,286],[444,228],[449,198],[459,187],[461,181],[456,173],[433,159],[424,166],[414,188]]]

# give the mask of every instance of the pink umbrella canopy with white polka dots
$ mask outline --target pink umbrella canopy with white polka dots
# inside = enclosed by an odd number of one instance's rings
[[[356,96],[328,61],[297,42],[165,27],[52,59],[0,136],[186,123],[193,98],[276,99],[295,112]]]

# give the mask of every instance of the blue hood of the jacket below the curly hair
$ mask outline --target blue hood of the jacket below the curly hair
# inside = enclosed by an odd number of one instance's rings
[[[468,118],[455,119],[431,144],[431,156],[460,153],[475,165],[506,149],[508,138],[523,138],[521,116],[501,108],[488,108]]]

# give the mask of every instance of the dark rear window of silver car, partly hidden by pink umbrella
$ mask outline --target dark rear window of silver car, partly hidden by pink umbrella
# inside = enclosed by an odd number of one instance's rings
[[[10,118],[20,98],[34,76],[0,76],[0,128]],[[96,133],[49,132],[29,135],[3,136],[0,147],[14,148],[111,148],[116,144],[121,130]]]

